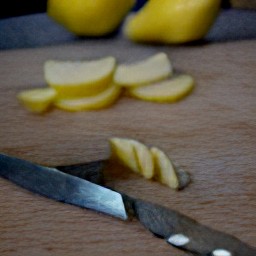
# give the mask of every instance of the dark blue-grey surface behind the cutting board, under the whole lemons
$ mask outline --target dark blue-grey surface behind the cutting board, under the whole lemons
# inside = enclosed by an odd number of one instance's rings
[[[256,11],[223,9],[205,39],[210,42],[256,39]],[[0,50],[42,47],[77,40],[86,38],[69,33],[45,13],[0,19]]]

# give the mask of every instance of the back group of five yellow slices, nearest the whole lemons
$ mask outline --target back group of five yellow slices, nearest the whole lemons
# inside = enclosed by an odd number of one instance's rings
[[[103,109],[114,104],[122,90],[141,100],[174,102],[194,87],[190,75],[173,75],[165,53],[120,65],[112,56],[86,61],[48,60],[44,76],[47,87],[18,94],[32,112],[42,113],[51,106],[68,111]]]

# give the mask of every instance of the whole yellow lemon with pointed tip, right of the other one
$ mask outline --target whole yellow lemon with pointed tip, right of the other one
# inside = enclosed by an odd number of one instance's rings
[[[203,38],[221,0],[149,0],[129,16],[124,34],[137,42],[185,43]]]

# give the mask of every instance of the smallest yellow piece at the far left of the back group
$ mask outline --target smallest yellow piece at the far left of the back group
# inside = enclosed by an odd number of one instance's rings
[[[52,88],[36,88],[22,91],[17,98],[31,112],[42,113],[52,105],[56,95]]]

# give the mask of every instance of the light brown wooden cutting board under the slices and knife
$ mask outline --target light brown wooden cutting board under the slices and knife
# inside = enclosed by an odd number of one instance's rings
[[[107,38],[0,52],[0,151],[54,166],[107,158],[112,136],[160,147],[191,173],[189,187],[176,192],[122,169],[109,170],[107,184],[255,246],[255,44],[169,47]],[[123,96],[106,110],[35,115],[16,100],[21,90],[45,86],[48,59],[113,55],[124,63],[159,51],[169,55],[175,70],[195,77],[195,90],[183,101],[156,104]],[[0,205],[0,255],[188,255],[136,220],[58,203],[4,179]]]

